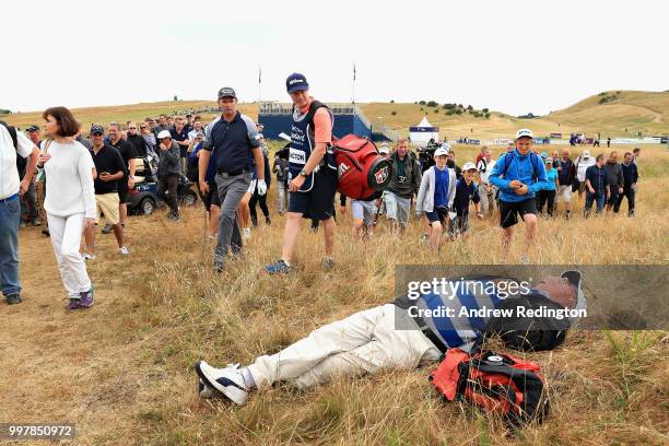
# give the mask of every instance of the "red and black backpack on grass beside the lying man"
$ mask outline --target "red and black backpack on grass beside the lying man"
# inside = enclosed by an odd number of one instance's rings
[[[430,383],[448,401],[465,401],[488,413],[498,413],[510,426],[521,426],[548,416],[541,366],[504,353],[469,354],[450,349]]]

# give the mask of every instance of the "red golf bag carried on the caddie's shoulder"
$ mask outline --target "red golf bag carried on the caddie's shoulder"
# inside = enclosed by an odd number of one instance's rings
[[[384,159],[367,138],[347,134],[334,143],[332,150],[340,193],[362,200],[390,184],[392,163]]]

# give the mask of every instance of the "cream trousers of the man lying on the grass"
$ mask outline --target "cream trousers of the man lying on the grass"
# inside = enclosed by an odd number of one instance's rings
[[[407,315],[399,310],[398,314]],[[420,331],[396,330],[396,306],[386,304],[320,327],[308,337],[248,366],[259,389],[292,380],[300,388],[325,384],[333,376],[357,376],[383,368],[412,369],[439,359]]]

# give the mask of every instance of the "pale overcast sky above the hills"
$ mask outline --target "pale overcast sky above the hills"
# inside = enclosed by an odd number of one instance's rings
[[[471,104],[545,114],[669,89],[666,1],[8,1],[0,108],[172,99]],[[9,19],[9,20],[8,20]],[[14,51],[14,56],[10,56]]]

